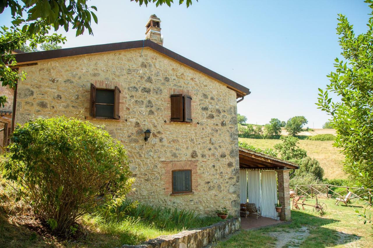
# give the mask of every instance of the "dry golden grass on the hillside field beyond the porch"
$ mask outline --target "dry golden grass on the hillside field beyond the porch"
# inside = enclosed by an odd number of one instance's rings
[[[266,139],[239,138],[239,140],[262,149],[273,148],[275,144],[282,142]],[[325,170],[325,178],[347,178],[342,170],[344,155],[339,153],[339,149],[332,144],[333,141],[299,140],[299,146],[307,151],[307,155],[319,160],[321,167]]]

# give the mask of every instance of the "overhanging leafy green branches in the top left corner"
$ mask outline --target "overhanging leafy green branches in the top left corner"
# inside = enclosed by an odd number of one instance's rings
[[[137,3],[147,5],[156,3],[156,6],[167,4],[171,6],[172,0],[135,0]],[[198,1],[198,0],[197,0]],[[3,0],[0,1],[0,14],[9,8],[12,25],[0,27],[0,81],[2,86],[14,88],[18,80],[26,78],[25,71],[13,71],[17,64],[12,50],[22,50],[22,45],[29,43],[31,50],[38,44],[59,44],[66,41],[66,37],[50,34],[51,30],[57,31],[63,28],[66,32],[69,28],[76,30],[76,36],[88,30],[93,34],[91,20],[98,22],[94,10],[95,6],[88,6],[88,0]],[[192,0],[186,0],[186,6],[192,4]],[[179,4],[184,0],[179,0]],[[0,106],[4,107],[6,96],[0,96]]]

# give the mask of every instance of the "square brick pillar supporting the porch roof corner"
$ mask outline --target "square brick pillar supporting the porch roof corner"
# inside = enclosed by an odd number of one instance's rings
[[[290,194],[289,194],[289,171],[290,170],[276,170],[278,191],[279,191],[279,203],[282,205],[280,213],[280,220],[290,220]]]

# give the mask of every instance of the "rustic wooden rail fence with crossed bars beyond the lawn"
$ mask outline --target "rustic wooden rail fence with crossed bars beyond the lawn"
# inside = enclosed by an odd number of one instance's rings
[[[337,193],[331,188],[344,188],[345,190]],[[370,205],[372,205],[373,201],[373,190],[366,189],[366,188],[357,188],[357,187],[345,187],[345,186],[336,186],[330,184],[314,184],[314,185],[296,185],[295,186],[295,194],[296,195],[306,195],[308,197],[313,198],[317,195],[317,197],[325,197],[325,198],[345,198],[348,192],[352,193],[352,197],[350,200],[354,198],[359,198],[361,200],[366,200]],[[300,194],[298,194],[300,193]]]

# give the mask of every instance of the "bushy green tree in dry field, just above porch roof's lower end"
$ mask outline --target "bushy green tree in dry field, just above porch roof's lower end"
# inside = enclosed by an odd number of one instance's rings
[[[283,142],[275,144],[274,148],[281,154],[281,159],[303,159],[307,156],[307,152],[304,149],[299,148],[298,138],[293,136],[282,136],[280,138]]]

